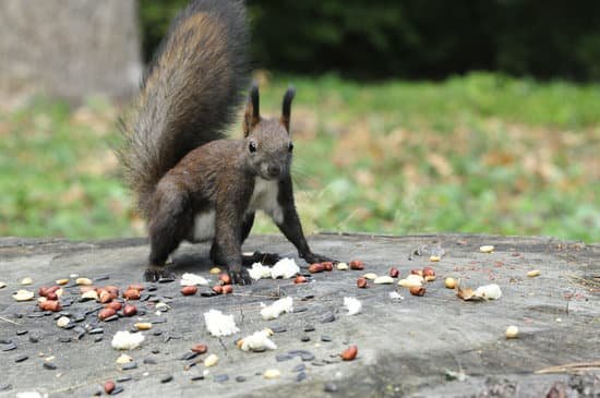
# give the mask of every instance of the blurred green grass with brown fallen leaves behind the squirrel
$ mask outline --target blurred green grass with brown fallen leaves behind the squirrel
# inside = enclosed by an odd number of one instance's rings
[[[309,231],[482,232],[600,241],[600,86],[485,73],[441,83],[288,82],[297,201]],[[0,236],[142,234],[108,148],[118,110],[0,110]],[[233,128],[238,134],[239,125]],[[259,232],[274,232],[260,218]]]

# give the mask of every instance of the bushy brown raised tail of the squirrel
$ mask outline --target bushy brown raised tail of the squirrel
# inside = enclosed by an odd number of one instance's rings
[[[240,0],[194,0],[172,22],[117,150],[144,218],[160,178],[189,152],[225,137],[249,83],[248,46]]]

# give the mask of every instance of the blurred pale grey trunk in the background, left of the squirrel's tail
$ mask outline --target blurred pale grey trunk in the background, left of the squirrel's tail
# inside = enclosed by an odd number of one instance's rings
[[[2,0],[0,92],[123,98],[142,75],[135,0]]]

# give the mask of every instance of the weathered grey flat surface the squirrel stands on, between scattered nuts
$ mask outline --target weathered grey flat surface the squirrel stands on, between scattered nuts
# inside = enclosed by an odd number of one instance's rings
[[[412,256],[415,249],[432,241],[445,249],[440,263],[430,263],[429,256]],[[405,299],[396,302],[388,293],[399,289],[393,286],[374,286],[358,289],[356,278],[361,272],[335,270],[313,276],[313,282],[293,285],[290,280],[261,280],[248,287],[235,287],[235,293],[204,298],[200,294],[182,297],[179,284],[157,285],[158,296],[172,296],[171,310],[164,314],[164,324],[144,331],[143,346],[128,352],[137,369],[121,371],[115,363],[119,352],[110,348],[117,330],[129,330],[140,319],[157,318],[154,311],[143,317],[121,318],[100,323],[104,339],[94,342],[98,335],[76,339],[76,331],[59,329],[53,316],[28,318],[34,302],[17,303],[11,293],[17,281],[32,277],[32,289],[52,285],[55,279],[79,274],[89,278],[110,276],[97,285],[117,285],[121,288],[141,280],[148,248],[144,240],[99,242],[69,242],[64,240],[0,239],[0,280],[8,287],[0,290],[0,339],[11,339],[16,350],[0,352],[2,372],[0,385],[10,389],[0,397],[14,396],[15,391],[38,390],[50,396],[91,396],[107,379],[131,376],[118,383],[123,396],[290,396],[290,397],[530,397],[545,396],[555,385],[567,393],[578,390],[588,396],[600,395],[599,349],[600,306],[598,265],[600,245],[585,245],[547,238],[506,238],[487,236],[417,236],[373,237],[334,236],[311,237],[316,252],[349,261],[361,258],[364,272],[379,275],[389,266],[406,276],[411,268],[425,265],[437,272],[437,280],[427,285],[424,297],[412,297],[398,290]],[[492,254],[479,253],[482,244],[493,244]],[[278,252],[293,256],[296,252],[280,237],[253,237],[244,250]],[[207,260],[207,245],[184,245],[175,257],[175,272],[194,272],[205,277],[212,266]],[[299,262],[300,265],[303,263]],[[537,278],[528,278],[530,269],[540,269]],[[452,290],[445,289],[443,278],[452,275],[472,287],[499,284],[503,297],[499,301],[464,302]],[[213,276],[212,278],[216,278]],[[75,291],[76,289],[67,289]],[[308,311],[284,314],[278,319],[263,321],[260,303],[285,294],[295,298],[295,306]],[[303,297],[313,299],[301,301]],[[363,313],[345,315],[344,297],[357,297],[363,303]],[[74,303],[69,312],[92,307],[94,303]],[[139,303],[141,309],[145,304]],[[233,314],[241,331],[230,337],[211,337],[204,325],[203,313],[219,309]],[[327,313],[335,313],[332,323],[321,323]],[[24,314],[19,318],[15,314]],[[83,323],[95,321],[89,315]],[[15,324],[13,324],[15,323]],[[314,331],[304,331],[307,325]],[[520,338],[506,340],[504,330],[518,325]],[[236,348],[238,338],[265,327],[285,326],[273,340],[278,349],[260,353],[242,352]],[[28,334],[16,336],[16,330]],[[155,336],[155,330],[163,333]],[[39,342],[29,342],[29,336]],[[309,342],[300,341],[304,335]],[[327,335],[333,341],[321,341]],[[169,341],[165,342],[168,337]],[[60,337],[73,337],[69,343]],[[208,353],[219,355],[219,363],[204,379],[191,382],[202,374],[199,363],[185,370],[191,361],[181,357],[199,342],[208,345]],[[358,358],[340,362],[337,354],[347,346],[359,347]],[[159,350],[153,353],[153,350]],[[277,354],[292,350],[309,350],[316,358],[302,362],[293,359],[277,362]],[[57,370],[43,367],[43,359],[55,355]],[[203,361],[208,354],[197,357]],[[27,361],[15,363],[20,355]],[[309,355],[307,355],[308,358]],[[154,361],[145,362],[152,358]],[[193,361],[193,360],[192,360]],[[584,375],[565,372],[536,374],[536,371],[568,363],[597,361]],[[329,363],[333,362],[333,363]],[[305,365],[307,378],[296,382],[292,372]],[[281,377],[266,381],[262,374],[278,369]],[[446,381],[446,370],[464,371],[464,382]],[[60,374],[60,377],[57,375]],[[229,379],[214,382],[215,375],[227,374]],[[172,375],[168,384],[160,384],[165,375]],[[236,382],[238,376],[245,382]],[[301,378],[301,377],[300,377]],[[325,393],[327,383],[334,383],[336,393]]]

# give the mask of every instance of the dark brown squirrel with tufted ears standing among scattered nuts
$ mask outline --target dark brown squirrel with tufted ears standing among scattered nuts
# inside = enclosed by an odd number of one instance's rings
[[[250,284],[241,244],[264,210],[308,263],[313,253],[293,203],[289,134],[295,89],[279,119],[263,119],[252,85],[243,138],[226,140],[249,84],[248,27],[240,1],[195,0],[173,21],[151,63],[136,116],[118,150],[151,241],[146,280],[170,275],[165,263],[187,240],[212,241],[211,260],[236,284]]]

